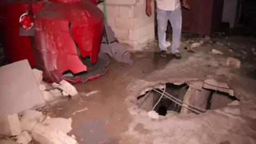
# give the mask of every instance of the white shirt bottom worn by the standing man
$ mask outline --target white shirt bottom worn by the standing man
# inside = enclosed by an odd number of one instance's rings
[[[174,11],[180,6],[180,0],[156,0],[158,9]]]

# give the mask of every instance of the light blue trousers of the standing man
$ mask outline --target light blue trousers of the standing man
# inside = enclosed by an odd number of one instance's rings
[[[172,53],[179,52],[180,46],[180,36],[181,36],[181,7],[178,7],[174,11],[165,11],[157,9],[157,33],[158,33],[158,42],[159,48],[161,51],[167,51],[166,47],[166,29],[168,20],[171,22],[172,26]]]

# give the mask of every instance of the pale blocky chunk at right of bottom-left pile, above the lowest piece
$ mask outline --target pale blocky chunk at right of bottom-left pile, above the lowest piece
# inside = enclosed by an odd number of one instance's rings
[[[50,129],[60,130],[63,133],[69,133],[72,130],[72,118],[62,118],[62,117],[47,117],[42,125],[49,127]]]

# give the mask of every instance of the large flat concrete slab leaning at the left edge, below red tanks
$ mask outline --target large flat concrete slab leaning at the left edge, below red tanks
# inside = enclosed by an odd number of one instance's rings
[[[45,106],[28,60],[0,67],[0,117]]]

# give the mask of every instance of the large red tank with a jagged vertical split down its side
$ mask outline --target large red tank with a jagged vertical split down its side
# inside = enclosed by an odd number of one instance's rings
[[[36,15],[35,58],[48,82],[59,82],[63,73],[87,71],[85,57],[98,61],[104,17],[98,7],[85,0],[51,0]],[[69,82],[70,79],[66,79]],[[81,82],[77,77],[76,81]]]

